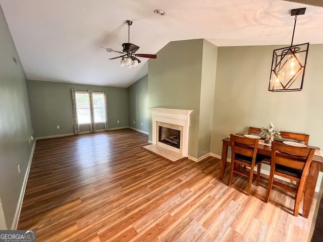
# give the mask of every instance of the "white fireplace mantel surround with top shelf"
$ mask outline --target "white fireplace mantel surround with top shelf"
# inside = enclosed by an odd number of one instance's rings
[[[187,157],[190,114],[193,110],[169,109],[160,107],[151,107],[150,110],[152,118],[152,144],[156,145],[158,143],[158,127],[156,125],[157,122],[182,126],[183,134],[181,134],[181,139],[183,142],[183,147],[181,149],[181,154]]]

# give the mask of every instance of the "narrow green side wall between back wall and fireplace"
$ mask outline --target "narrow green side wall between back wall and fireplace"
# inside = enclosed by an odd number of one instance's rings
[[[128,98],[129,126],[148,133],[148,75],[128,87]]]

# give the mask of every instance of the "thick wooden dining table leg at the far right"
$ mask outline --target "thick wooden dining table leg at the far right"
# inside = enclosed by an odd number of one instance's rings
[[[308,174],[307,185],[305,188],[304,201],[303,201],[302,216],[304,218],[308,218],[309,211],[311,209],[319,167],[320,167],[319,162],[312,161],[311,167],[309,168],[309,174]]]

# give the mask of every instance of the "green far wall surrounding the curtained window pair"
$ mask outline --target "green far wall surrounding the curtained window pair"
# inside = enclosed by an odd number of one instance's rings
[[[127,88],[28,80],[35,137],[73,133],[71,88],[106,91],[108,128],[128,126]]]

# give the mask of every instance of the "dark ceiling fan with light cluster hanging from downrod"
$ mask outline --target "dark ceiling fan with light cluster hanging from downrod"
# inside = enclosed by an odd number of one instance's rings
[[[139,46],[130,43],[130,26],[132,25],[132,21],[126,20],[126,24],[128,25],[128,43],[122,44],[122,47],[123,47],[122,51],[113,50],[112,48],[103,48],[103,47],[100,47],[100,48],[106,50],[107,52],[121,53],[122,55],[113,57],[110,59],[122,58],[120,61],[120,66],[123,66],[123,67],[125,66],[129,68],[138,67],[140,60],[137,57],[155,59],[157,57],[157,55],[155,54],[135,54],[135,52],[139,49]]]

